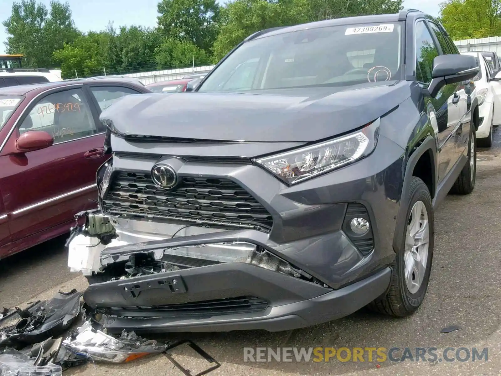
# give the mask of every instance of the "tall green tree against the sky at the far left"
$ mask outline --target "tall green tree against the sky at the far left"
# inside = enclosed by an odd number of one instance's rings
[[[50,12],[42,3],[23,0],[12,5],[11,16],[3,26],[8,33],[7,53],[24,54],[29,66],[52,68],[52,54],[80,35],[71,18],[68,3],[50,3]]]

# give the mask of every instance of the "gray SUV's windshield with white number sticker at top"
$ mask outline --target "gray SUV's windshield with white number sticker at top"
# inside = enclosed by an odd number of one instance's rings
[[[333,26],[272,35],[237,48],[198,91],[350,86],[400,75],[401,25]]]

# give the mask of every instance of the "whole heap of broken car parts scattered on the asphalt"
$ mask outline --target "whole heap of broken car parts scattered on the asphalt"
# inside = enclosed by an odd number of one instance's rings
[[[0,321],[11,318],[15,322],[0,329],[0,376],[62,376],[63,370],[89,361],[126,363],[159,353],[187,376],[201,376],[220,367],[190,340],[169,345],[142,338],[134,331],[123,330],[120,336],[107,334],[105,329],[100,330],[97,315],[101,314],[87,311],[85,303],[81,307],[81,296],[77,290],[60,291],[54,298],[30,303],[25,309],[0,309]],[[80,313],[87,321],[71,332]],[[16,315],[19,317],[14,321]],[[70,334],[65,334],[68,331]],[[210,367],[192,375],[167,353],[184,343],[205,358]]]

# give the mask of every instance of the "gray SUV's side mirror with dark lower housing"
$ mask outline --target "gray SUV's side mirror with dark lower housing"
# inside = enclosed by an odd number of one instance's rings
[[[435,97],[446,84],[470,80],[480,68],[471,55],[440,55],[433,59],[433,70],[428,92]]]

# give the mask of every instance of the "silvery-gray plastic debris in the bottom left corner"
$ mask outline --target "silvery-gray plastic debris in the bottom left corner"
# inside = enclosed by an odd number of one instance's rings
[[[0,353],[0,374],[2,376],[62,376],[60,365],[45,363],[36,365],[38,359],[15,349]]]

